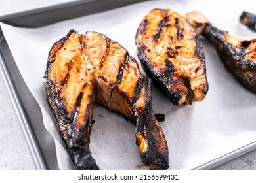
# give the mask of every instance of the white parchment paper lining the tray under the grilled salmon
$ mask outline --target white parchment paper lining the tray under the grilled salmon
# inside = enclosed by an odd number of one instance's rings
[[[54,137],[60,169],[73,169],[73,165],[42,84],[48,52],[55,41],[70,29],[79,33],[98,31],[119,42],[139,61],[135,33],[142,18],[153,8],[171,8],[180,14],[198,10],[219,29],[256,37],[238,20],[242,10],[255,13],[255,2],[146,1],[36,29],[1,23],[20,73],[41,107],[45,128]],[[154,112],[165,114],[165,122],[160,124],[168,141],[170,169],[192,169],[256,140],[256,95],[226,71],[208,41],[203,40],[203,48],[209,82],[204,101],[177,107],[153,87]],[[96,123],[90,148],[100,169],[137,169],[141,162],[135,144],[135,125],[100,105],[93,108],[93,118]]]

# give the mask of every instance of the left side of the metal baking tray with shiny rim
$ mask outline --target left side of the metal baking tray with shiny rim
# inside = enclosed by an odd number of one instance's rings
[[[35,168],[58,169],[53,137],[43,125],[41,109],[18,71],[1,28],[0,68]]]

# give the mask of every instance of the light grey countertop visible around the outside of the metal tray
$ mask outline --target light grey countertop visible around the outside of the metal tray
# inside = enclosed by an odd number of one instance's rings
[[[1,0],[0,16],[70,1],[72,0]],[[11,98],[1,75],[0,101],[0,169],[35,169],[18,118],[14,112]],[[215,169],[256,169],[256,151],[249,152]]]

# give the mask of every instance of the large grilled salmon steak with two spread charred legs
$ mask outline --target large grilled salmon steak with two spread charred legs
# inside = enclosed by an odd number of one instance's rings
[[[89,150],[93,105],[99,103],[136,125],[142,164],[168,169],[167,141],[152,110],[151,81],[117,42],[88,31],[70,31],[49,52],[47,100],[76,169],[99,169]]]

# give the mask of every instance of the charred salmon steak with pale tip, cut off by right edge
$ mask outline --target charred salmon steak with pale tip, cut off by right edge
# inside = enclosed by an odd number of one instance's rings
[[[256,93],[256,39],[221,31],[200,12],[190,12],[186,18],[215,46],[226,69],[245,88]]]

